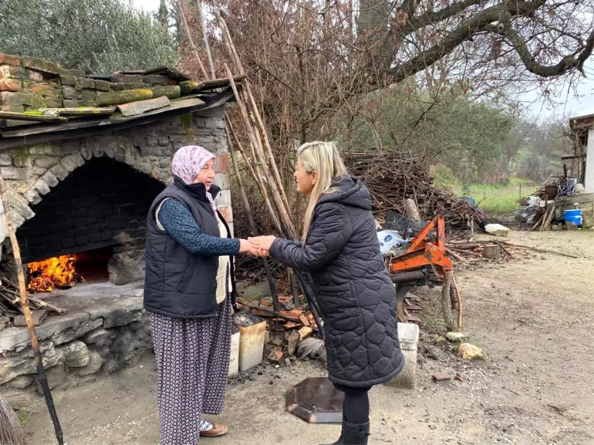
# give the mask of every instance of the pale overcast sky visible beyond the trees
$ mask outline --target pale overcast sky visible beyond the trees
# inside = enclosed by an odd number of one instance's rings
[[[132,0],[132,3],[139,9],[145,11],[157,11],[160,0]],[[577,87],[577,96],[574,91],[568,91],[567,88],[557,97],[553,97],[556,102],[561,103],[557,113],[562,112],[568,117],[576,117],[594,114],[594,58],[590,58],[586,66],[586,79],[582,80]],[[530,105],[530,111],[537,117],[545,117],[554,113],[555,110],[549,109],[548,105],[539,99],[537,93],[526,93],[520,100],[535,103]]]

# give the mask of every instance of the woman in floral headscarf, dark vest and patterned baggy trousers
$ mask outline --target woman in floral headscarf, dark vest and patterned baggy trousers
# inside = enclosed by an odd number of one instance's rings
[[[223,425],[203,413],[223,408],[230,357],[233,256],[257,255],[247,240],[233,239],[214,204],[215,155],[180,148],[171,164],[173,183],[149,210],[144,307],[159,371],[161,445],[196,445],[222,436]]]

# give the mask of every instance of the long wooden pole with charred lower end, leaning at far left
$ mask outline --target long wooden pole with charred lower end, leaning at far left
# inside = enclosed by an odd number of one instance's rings
[[[8,236],[12,244],[12,255],[14,255],[14,262],[17,268],[18,276],[18,290],[21,297],[21,308],[27,322],[27,329],[29,329],[29,337],[31,338],[31,348],[33,348],[33,357],[37,367],[37,379],[43,389],[43,396],[45,396],[45,403],[48,405],[49,416],[52,418],[53,429],[55,430],[56,439],[59,445],[64,445],[64,437],[62,435],[62,427],[58,420],[58,413],[56,407],[53,405],[52,393],[49,390],[48,376],[46,376],[45,368],[43,368],[43,361],[41,351],[39,350],[39,340],[37,339],[37,332],[33,324],[33,316],[31,316],[31,309],[29,307],[29,297],[27,296],[27,287],[25,284],[25,275],[23,274],[23,260],[21,260],[21,250],[18,248],[17,235],[12,225],[10,216],[10,206],[8,205],[8,195],[6,186],[4,184],[4,177],[0,171],[0,198],[2,199],[2,207],[4,208],[4,221],[8,230]]]

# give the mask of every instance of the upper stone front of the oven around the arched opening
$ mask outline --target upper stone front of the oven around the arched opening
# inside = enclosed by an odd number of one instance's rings
[[[18,228],[36,215],[36,205],[43,197],[91,158],[110,158],[167,184],[172,179],[173,154],[188,144],[201,145],[217,155],[216,183],[222,188],[217,204],[232,225],[224,116],[224,106],[220,106],[98,136],[1,152],[0,169],[17,236],[21,237]],[[114,228],[110,236],[115,236],[116,231]],[[4,218],[0,218],[0,241],[7,236]]]

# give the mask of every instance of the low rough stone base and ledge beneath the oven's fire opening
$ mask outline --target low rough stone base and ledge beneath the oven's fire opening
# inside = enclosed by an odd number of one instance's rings
[[[68,314],[37,327],[50,389],[88,383],[152,351],[142,295],[142,283],[104,283],[72,289],[55,301]],[[0,394],[17,409],[42,394],[29,345],[26,328],[0,333]]]

